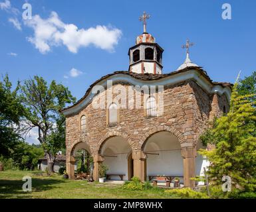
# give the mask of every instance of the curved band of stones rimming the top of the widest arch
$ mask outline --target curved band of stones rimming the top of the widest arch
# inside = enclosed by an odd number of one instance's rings
[[[140,150],[143,150],[144,145],[146,144],[148,138],[150,138],[152,135],[156,134],[157,132],[161,132],[161,131],[171,132],[172,134],[174,134],[178,138],[178,141],[180,142],[180,144],[185,142],[184,135],[182,134],[182,132],[178,131],[177,129],[174,129],[174,127],[168,127],[166,125],[162,125],[162,126],[158,126],[150,129],[142,136],[142,139],[141,139],[142,142],[140,142],[139,144]]]

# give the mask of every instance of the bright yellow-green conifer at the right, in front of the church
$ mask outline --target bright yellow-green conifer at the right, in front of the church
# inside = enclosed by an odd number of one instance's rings
[[[239,95],[236,82],[231,94],[230,111],[216,120],[201,139],[204,143],[214,143],[214,150],[200,150],[207,156],[209,180],[221,185],[223,176],[230,176],[232,184],[239,191],[256,191],[256,138],[255,102],[250,95]]]

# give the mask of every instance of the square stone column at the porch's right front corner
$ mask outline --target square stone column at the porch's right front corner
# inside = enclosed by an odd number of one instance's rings
[[[195,178],[195,157],[196,148],[192,146],[182,148],[185,187],[195,187],[195,181],[190,180],[190,178]]]

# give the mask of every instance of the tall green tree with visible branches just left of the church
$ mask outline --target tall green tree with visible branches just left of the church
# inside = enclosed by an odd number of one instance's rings
[[[39,76],[25,81],[20,97],[25,108],[24,121],[28,130],[38,129],[38,140],[52,172],[55,156],[64,147],[65,140],[65,118],[59,111],[76,99],[67,87],[54,80],[47,85],[47,81]]]

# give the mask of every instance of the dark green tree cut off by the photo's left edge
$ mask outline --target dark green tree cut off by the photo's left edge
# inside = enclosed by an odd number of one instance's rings
[[[8,75],[0,81],[0,156],[10,156],[11,149],[21,139],[19,121],[23,115],[23,107],[17,95],[17,87],[12,91]]]

